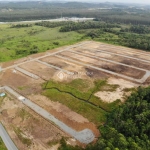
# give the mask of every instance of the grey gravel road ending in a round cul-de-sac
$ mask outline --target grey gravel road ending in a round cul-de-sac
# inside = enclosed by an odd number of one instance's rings
[[[64,124],[63,122],[59,121],[57,118],[55,118],[49,112],[47,112],[46,110],[44,110],[42,107],[38,106],[37,104],[33,103],[29,99],[27,99],[27,98],[20,99],[21,95],[19,93],[17,93],[16,91],[14,91],[12,88],[10,88],[8,86],[4,86],[4,89],[8,93],[10,93],[11,95],[18,98],[18,100],[20,100],[26,106],[28,106],[29,108],[34,110],[36,113],[38,113],[39,115],[41,115],[45,119],[55,123],[60,129],[62,129],[66,133],[70,134],[72,137],[74,137],[75,139],[77,139],[81,143],[89,144],[94,140],[95,135],[93,134],[93,132],[90,129],[84,129],[80,132],[77,132],[74,129],[72,129],[71,127]]]

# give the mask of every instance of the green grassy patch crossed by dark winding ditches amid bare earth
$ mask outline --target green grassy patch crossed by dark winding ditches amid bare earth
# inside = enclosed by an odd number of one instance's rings
[[[43,88],[45,88],[45,84]],[[92,82],[89,80],[76,79],[70,83],[49,81],[43,90],[43,95],[52,101],[58,101],[68,106],[73,111],[83,115],[95,124],[100,125],[105,122],[107,113],[115,109],[119,104],[119,101],[105,103],[94,96],[94,93],[104,90],[104,87],[107,87],[107,91],[108,87],[109,90],[112,91],[115,90],[116,85],[109,85],[105,80]],[[92,104],[89,104],[89,102]]]

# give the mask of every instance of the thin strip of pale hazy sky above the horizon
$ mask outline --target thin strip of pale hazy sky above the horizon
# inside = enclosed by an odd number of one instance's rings
[[[0,0],[0,1],[32,1],[32,0]],[[35,1],[35,0],[34,0]],[[38,0],[37,0],[38,1]],[[42,0],[40,0],[42,1]],[[47,0],[48,1],[48,0]],[[54,1],[54,0],[49,0]],[[57,0],[55,0],[56,2]],[[58,0],[63,1],[63,0]],[[119,2],[119,3],[143,3],[150,4],[150,0],[64,0],[64,1],[80,1],[80,2]]]

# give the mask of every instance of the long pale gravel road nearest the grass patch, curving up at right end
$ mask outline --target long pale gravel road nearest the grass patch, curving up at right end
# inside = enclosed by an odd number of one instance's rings
[[[106,69],[102,69],[102,68],[95,67],[95,66],[92,66],[92,65],[89,65],[89,64],[85,64],[85,63],[73,60],[73,59],[65,57],[65,56],[56,55],[56,57],[58,57],[60,59],[67,60],[67,61],[70,61],[70,62],[73,62],[73,63],[76,63],[76,64],[79,64],[79,65],[82,65],[82,66],[86,66],[86,67],[90,67],[90,68],[93,68],[93,69],[96,69],[96,70],[100,70],[102,72],[106,72],[106,73],[109,73],[109,74],[112,74],[112,75],[115,75],[115,76],[118,76],[118,77],[121,77],[121,78],[124,78],[124,79],[135,81],[135,82],[138,82],[138,83],[144,83],[146,81],[146,79],[150,76],[150,72],[146,71],[146,74],[143,76],[142,79],[135,79],[135,78],[131,78],[131,77],[119,74],[119,73],[115,73],[115,72],[106,70]]]

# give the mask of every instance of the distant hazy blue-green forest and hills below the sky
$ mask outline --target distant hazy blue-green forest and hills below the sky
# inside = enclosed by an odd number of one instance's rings
[[[100,21],[150,24],[150,6],[81,2],[0,2],[0,21],[22,21],[60,17],[92,17]]]

